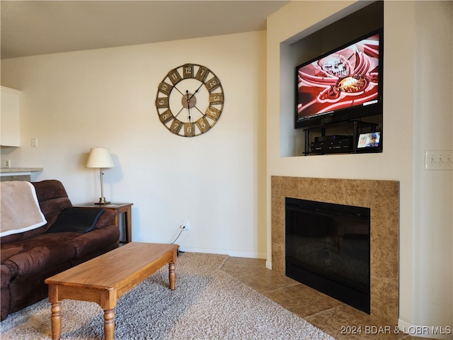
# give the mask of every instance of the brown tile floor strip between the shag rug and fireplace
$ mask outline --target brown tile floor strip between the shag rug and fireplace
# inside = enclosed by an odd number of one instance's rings
[[[319,293],[292,278],[275,273],[265,267],[263,259],[230,257],[222,266],[222,270],[335,339],[428,339],[403,333],[396,334],[394,330],[396,325],[381,325],[365,312]]]

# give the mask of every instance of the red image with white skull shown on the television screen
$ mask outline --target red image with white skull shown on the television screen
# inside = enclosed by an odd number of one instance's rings
[[[297,119],[377,103],[379,33],[297,69]]]

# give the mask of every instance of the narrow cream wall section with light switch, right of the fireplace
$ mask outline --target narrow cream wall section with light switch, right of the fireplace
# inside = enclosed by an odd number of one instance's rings
[[[412,323],[452,326],[453,173],[426,171],[423,150],[453,149],[453,2],[414,8]]]

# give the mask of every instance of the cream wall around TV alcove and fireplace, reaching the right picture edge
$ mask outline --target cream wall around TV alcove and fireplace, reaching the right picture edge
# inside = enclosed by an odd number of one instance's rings
[[[282,126],[292,123],[294,103],[283,90],[293,83],[292,72],[282,66],[291,60],[287,44],[366,4],[292,1],[268,18],[268,260],[270,176],[399,181],[399,324],[452,327],[452,172],[424,169],[425,150],[453,149],[452,3],[384,3],[384,152],[311,157],[282,152],[282,144],[295,138]]]

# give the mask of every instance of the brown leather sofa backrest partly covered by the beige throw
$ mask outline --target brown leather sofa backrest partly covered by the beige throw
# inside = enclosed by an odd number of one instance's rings
[[[47,179],[45,181],[31,183],[35,187],[36,196],[38,197],[38,202],[40,203],[41,211],[47,220],[47,224],[28,232],[1,237],[2,244],[28,239],[29,237],[46,232],[47,229],[55,223],[60,212],[72,206],[66,189],[64,189],[64,186],[60,181]]]

